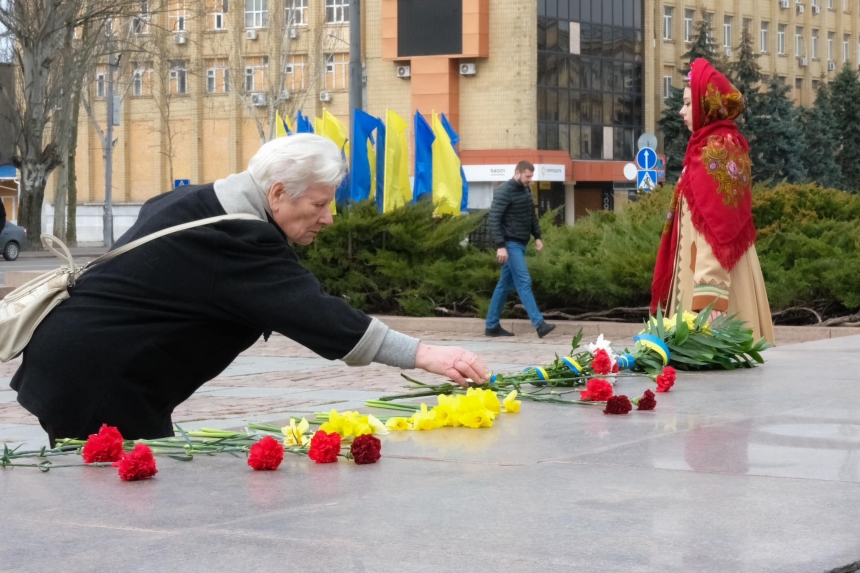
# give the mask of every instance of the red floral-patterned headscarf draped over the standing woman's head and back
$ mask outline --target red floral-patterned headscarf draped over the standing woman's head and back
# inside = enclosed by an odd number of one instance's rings
[[[743,112],[743,96],[707,60],[693,62],[689,77],[693,134],[657,251],[652,313],[658,306],[668,306],[680,224],[675,211],[681,197],[693,227],[708,241],[723,268],[732,270],[755,243],[749,144],[734,123]]]

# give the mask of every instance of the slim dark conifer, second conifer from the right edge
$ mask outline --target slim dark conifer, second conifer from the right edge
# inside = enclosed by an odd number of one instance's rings
[[[821,82],[815,105],[801,112],[806,151],[803,164],[807,176],[823,187],[842,188],[842,166],[836,161],[839,151],[839,127],[833,107],[830,86]]]

